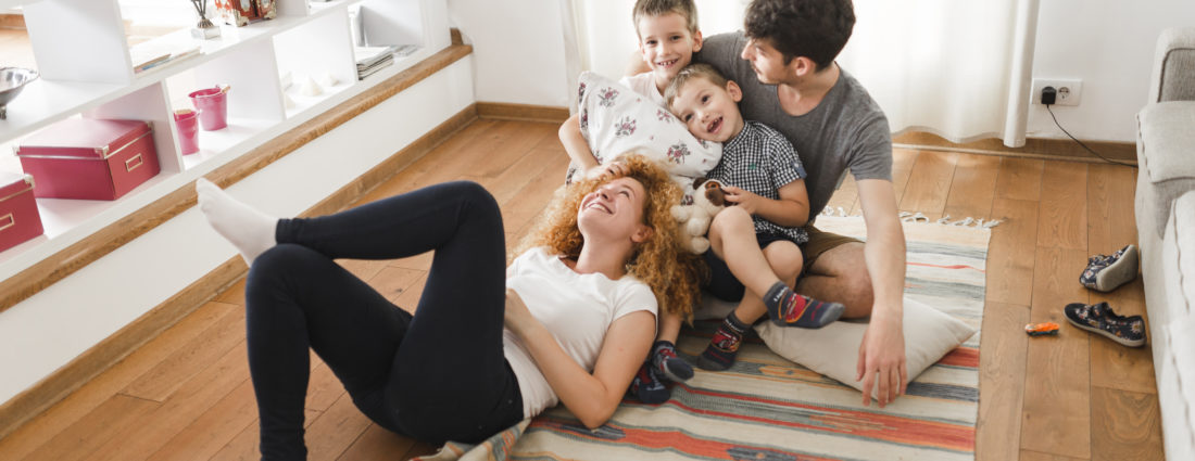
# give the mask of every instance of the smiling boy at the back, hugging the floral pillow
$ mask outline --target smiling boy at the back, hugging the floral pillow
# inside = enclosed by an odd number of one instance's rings
[[[663,106],[664,87],[680,69],[688,66],[693,53],[701,49],[697,7],[693,0],[638,0],[631,17],[639,36],[639,54],[650,70],[624,76],[619,82]],[[582,172],[595,174],[595,167],[601,162],[581,135],[577,115],[560,125],[559,136],[572,162]]]

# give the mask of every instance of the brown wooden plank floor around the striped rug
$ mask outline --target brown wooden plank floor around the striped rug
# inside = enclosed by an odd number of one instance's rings
[[[560,184],[565,154],[550,123],[480,119],[370,192],[370,201],[471,179],[502,205],[510,245]],[[1140,279],[1102,295],[1078,276],[1093,253],[1135,242],[1133,185],[1123,166],[963,153],[894,153],[901,210],[931,220],[1000,219],[987,266],[978,459],[1160,460],[1148,346],[1126,349],[1071,327],[1068,302],[1111,302],[1145,314]],[[858,211],[847,179],[831,202]],[[343,262],[398,305],[415,306],[428,257]],[[219,294],[47,413],[0,440],[0,460],[256,460],[257,418],[245,359],[244,285]],[[1056,321],[1056,338],[1024,325]],[[354,408],[312,361],[312,460],[394,460],[433,447],[390,434]]]

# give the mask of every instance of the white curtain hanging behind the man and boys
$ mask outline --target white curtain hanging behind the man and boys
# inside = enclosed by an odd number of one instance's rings
[[[569,2],[575,16],[566,27],[576,31],[578,49],[570,56],[576,68],[623,75],[636,47],[630,19],[635,1],[560,1]],[[698,0],[701,31],[710,36],[741,30],[747,4]],[[1031,4],[1036,10],[1036,1]],[[854,32],[839,63],[883,107],[893,133],[929,131],[955,142],[1017,137],[1006,133],[1006,118],[1024,112],[1023,105],[1010,100],[1028,98],[1028,82],[1013,75],[1015,63],[1032,61],[1031,37],[1030,55],[1024,56],[1023,47],[1017,47],[1024,37],[1018,42],[1017,35],[1034,32],[1034,27],[1018,32],[1017,5],[1018,0],[856,0]],[[1024,137],[1024,115],[1012,115],[1019,116]]]

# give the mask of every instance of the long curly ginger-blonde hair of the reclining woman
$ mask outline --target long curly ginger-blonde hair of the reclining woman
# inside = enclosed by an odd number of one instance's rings
[[[651,238],[635,247],[626,272],[651,288],[661,311],[691,321],[705,265],[680,244],[680,227],[672,216],[672,207],[680,203],[681,190],[662,167],[643,155],[626,153],[618,161],[626,166],[625,177],[639,182],[646,191],[643,220],[652,229]],[[580,257],[584,238],[577,227],[577,209],[587,193],[605,183],[586,179],[557,190],[535,229],[523,238],[511,257],[540,246],[568,258]]]

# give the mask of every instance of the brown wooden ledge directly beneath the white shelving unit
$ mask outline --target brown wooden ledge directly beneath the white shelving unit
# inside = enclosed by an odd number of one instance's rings
[[[245,153],[232,162],[208,173],[207,178],[221,188],[227,188],[471,53],[473,53],[471,45],[449,45],[436,55],[332,107],[324,115]],[[145,208],[0,282],[0,312],[66,278],[192,205],[195,205],[195,186],[194,183],[188,183]]]

